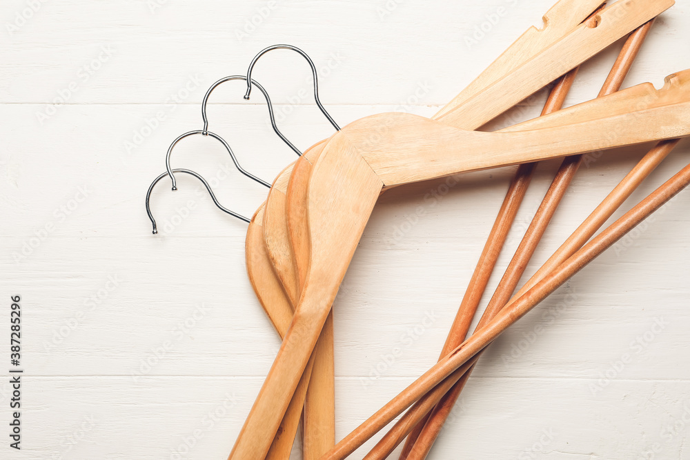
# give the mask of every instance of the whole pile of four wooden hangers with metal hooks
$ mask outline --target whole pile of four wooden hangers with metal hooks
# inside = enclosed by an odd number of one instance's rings
[[[542,30],[530,28],[522,34],[431,119],[384,113],[359,119],[341,130],[319,102],[313,62],[302,50],[286,45],[259,52],[246,77],[226,77],[209,88],[201,108],[204,128],[172,142],[166,155],[167,172],[149,188],[146,209],[155,233],[148,206],[151,190],[166,175],[175,190],[174,173],[185,172],[204,183],[221,210],[249,223],[249,278],[283,341],[230,459],[287,459],[301,418],[305,459],[344,459],[407,408],[364,458],[384,459],[405,438],[400,458],[426,457],[484,348],[690,183],[689,165],[595,236],[667,157],[678,138],[690,135],[690,71],[667,77],[660,90],[651,83],[620,90],[653,19],[672,5],[673,0],[619,0],[610,6],[602,6],[601,0],[560,0],[545,14]],[[578,66],[627,34],[599,97],[560,110]],[[310,63],[317,105],[337,130],[304,154],[279,132],[268,94],[251,79],[257,59],[277,48],[295,50]],[[228,143],[208,131],[206,103],[210,93],[219,84],[235,79],[246,80],[246,99],[253,86],[262,91],[273,129],[300,155],[272,186],[242,169]],[[541,117],[498,132],[477,131],[554,81]],[[266,202],[252,219],[221,206],[196,172],[170,168],[172,148],[193,134],[217,139],[243,174],[270,187]],[[583,154],[649,141],[658,144],[513,294]],[[476,330],[466,338],[536,162],[555,157],[564,157],[562,165]],[[384,190],[406,183],[515,164],[520,166],[440,359],[335,443],[331,306],[377,198]]]

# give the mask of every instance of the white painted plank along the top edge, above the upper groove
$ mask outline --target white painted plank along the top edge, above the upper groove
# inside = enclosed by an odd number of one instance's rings
[[[17,12],[21,15],[27,5],[7,1],[3,32],[10,46],[0,50],[6,75],[0,101],[50,103],[74,82],[78,89],[68,103],[162,103],[184,88],[189,75],[210,82],[242,74],[258,50],[288,42],[304,48],[323,69],[325,103],[397,104],[422,84],[429,88],[414,103],[444,104],[529,25],[542,26],[540,18],[553,4],[169,0],[152,13],[147,4],[156,1],[46,1],[12,33],[8,26],[15,26]],[[500,7],[506,14],[495,25],[489,23],[487,17]],[[631,81],[661,81],[690,67],[687,41],[678,33],[687,25],[688,8],[678,2],[660,19]],[[255,17],[260,10],[268,11],[263,21]],[[381,13],[388,10],[391,14]],[[238,38],[252,19],[259,26]],[[482,27],[484,37],[477,35],[478,43],[469,44]],[[110,57],[101,55],[103,46],[110,46]],[[661,49],[669,51],[655,51]],[[275,54],[257,66],[256,77],[277,101],[287,101],[308,88],[308,68],[297,54]],[[99,56],[108,60],[92,64]],[[597,67],[598,77],[578,85],[574,100],[595,95],[614,56],[611,50],[601,59],[607,64]],[[238,90],[231,100],[240,97]]]

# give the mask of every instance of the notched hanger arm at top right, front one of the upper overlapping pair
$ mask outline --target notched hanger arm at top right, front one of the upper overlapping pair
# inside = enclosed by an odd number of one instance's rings
[[[525,97],[548,85],[580,63],[594,56],[625,34],[650,21],[673,6],[673,0],[620,0],[604,8],[597,16],[598,26],[585,24],[575,28],[552,46],[515,68],[511,74],[495,81],[448,110],[438,119],[466,129],[476,129],[515,106]]]

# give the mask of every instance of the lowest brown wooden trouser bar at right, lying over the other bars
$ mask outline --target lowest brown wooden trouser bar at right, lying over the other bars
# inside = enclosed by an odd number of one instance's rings
[[[481,330],[475,332],[472,337],[462,343],[461,346],[455,348],[442,361],[428,370],[420,379],[417,379],[411,386],[408,386],[395,398],[393,398],[386,406],[378,410],[372,417],[362,423],[353,434],[348,435],[340,441],[331,452],[324,455],[324,460],[339,460],[344,459],[354,448],[353,446],[361,445],[362,441],[356,439],[357,437],[371,437],[375,432],[386,426],[398,414],[402,413],[405,408],[410,406],[413,402],[419,400],[425,393],[430,390],[436,394],[443,394],[444,392],[436,392],[433,390],[435,386],[444,387],[448,390],[452,383],[448,383],[449,379],[457,380],[456,374],[463,374],[466,372],[477,359],[477,353],[484,350],[486,346],[491,343],[498,335],[500,335],[506,328],[515,323],[518,319],[524,316],[531,308],[536,306],[540,301],[548,297],[548,295],[562,286],[575,273],[579,272],[584,266],[591,262],[599,254],[607,250],[627,232],[635,228],[641,221],[649,217],[655,210],[658,210],[669,199],[673,198],[678,192],[686,188],[690,184],[690,165],[686,166],[678,174],[674,175],[666,181],[662,186],[640,203],[638,203],[631,210],[626,212],[620,219],[615,221],[611,226],[603,230],[592,241],[586,243],[580,250],[573,252],[573,255],[560,263],[555,270],[549,272],[541,281],[527,290],[524,294],[518,297],[513,303],[509,303],[493,320],[484,326]],[[450,372],[449,372],[450,371]],[[423,408],[417,408],[420,411],[429,410],[433,407],[434,402],[429,401]],[[413,409],[414,410],[414,409]],[[405,419],[405,417],[403,417]],[[401,419],[401,421],[403,421]]]

